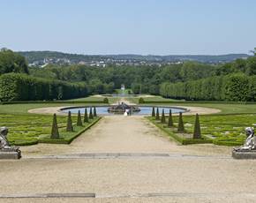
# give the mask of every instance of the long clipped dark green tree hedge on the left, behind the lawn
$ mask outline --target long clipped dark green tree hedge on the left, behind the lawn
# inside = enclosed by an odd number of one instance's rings
[[[87,94],[85,84],[38,79],[19,73],[0,76],[0,100],[3,102],[67,100]]]

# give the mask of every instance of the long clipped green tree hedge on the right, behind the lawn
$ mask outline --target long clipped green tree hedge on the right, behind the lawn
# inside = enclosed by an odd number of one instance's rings
[[[187,82],[163,83],[163,97],[196,101],[255,102],[255,77],[243,73]]]

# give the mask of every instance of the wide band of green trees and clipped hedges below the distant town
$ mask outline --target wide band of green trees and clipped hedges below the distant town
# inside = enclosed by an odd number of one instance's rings
[[[15,72],[15,75],[5,74],[10,72]],[[61,100],[106,94],[113,93],[122,84],[132,88],[134,94],[160,94],[186,100],[256,101],[256,56],[226,64],[187,61],[161,67],[110,65],[102,68],[49,64],[39,68],[28,67],[24,56],[2,49],[0,74],[0,99],[3,101]],[[6,84],[12,84],[14,90],[4,89]],[[22,86],[26,86],[26,91]],[[46,87],[45,97],[41,97],[39,93]],[[67,91],[73,94],[67,94]],[[15,94],[8,96],[10,92]]]

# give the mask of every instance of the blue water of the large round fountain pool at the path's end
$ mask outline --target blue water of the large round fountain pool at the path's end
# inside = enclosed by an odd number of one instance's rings
[[[95,107],[97,114],[102,115],[102,116],[108,116],[108,115],[115,115],[115,113],[109,112],[109,106],[105,107]],[[139,106],[140,111],[139,112],[132,112],[132,115],[150,115],[152,112],[153,107],[142,107]],[[156,108],[159,109],[159,113],[162,114],[162,109],[164,110],[164,113],[167,115],[169,114],[169,109],[171,109],[171,112],[173,114],[179,113],[179,112],[185,112],[187,109],[182,109],[182,108],[174,108],[174,107],[154,107],[155,110]],[[77,114],[79,111],[81,114],[85,113],[85,107],[75,107],[75,108],[64,108],[61,109],[62,112],[68,113],[71,111],[73,114]],[[89,112],[89,107],[87,107],[87,112]]]

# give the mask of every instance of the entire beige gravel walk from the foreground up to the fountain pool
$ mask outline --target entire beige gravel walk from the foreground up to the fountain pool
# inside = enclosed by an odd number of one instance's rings
[[[21,150],[23,159],[0,161],[0,202],[255,202],[256,198],[255,161],[233,160],[230,147],[179,146],[143,117],[104,117],[69,146],[40,144]],[[95,198],[75,198],[92,192]]]

